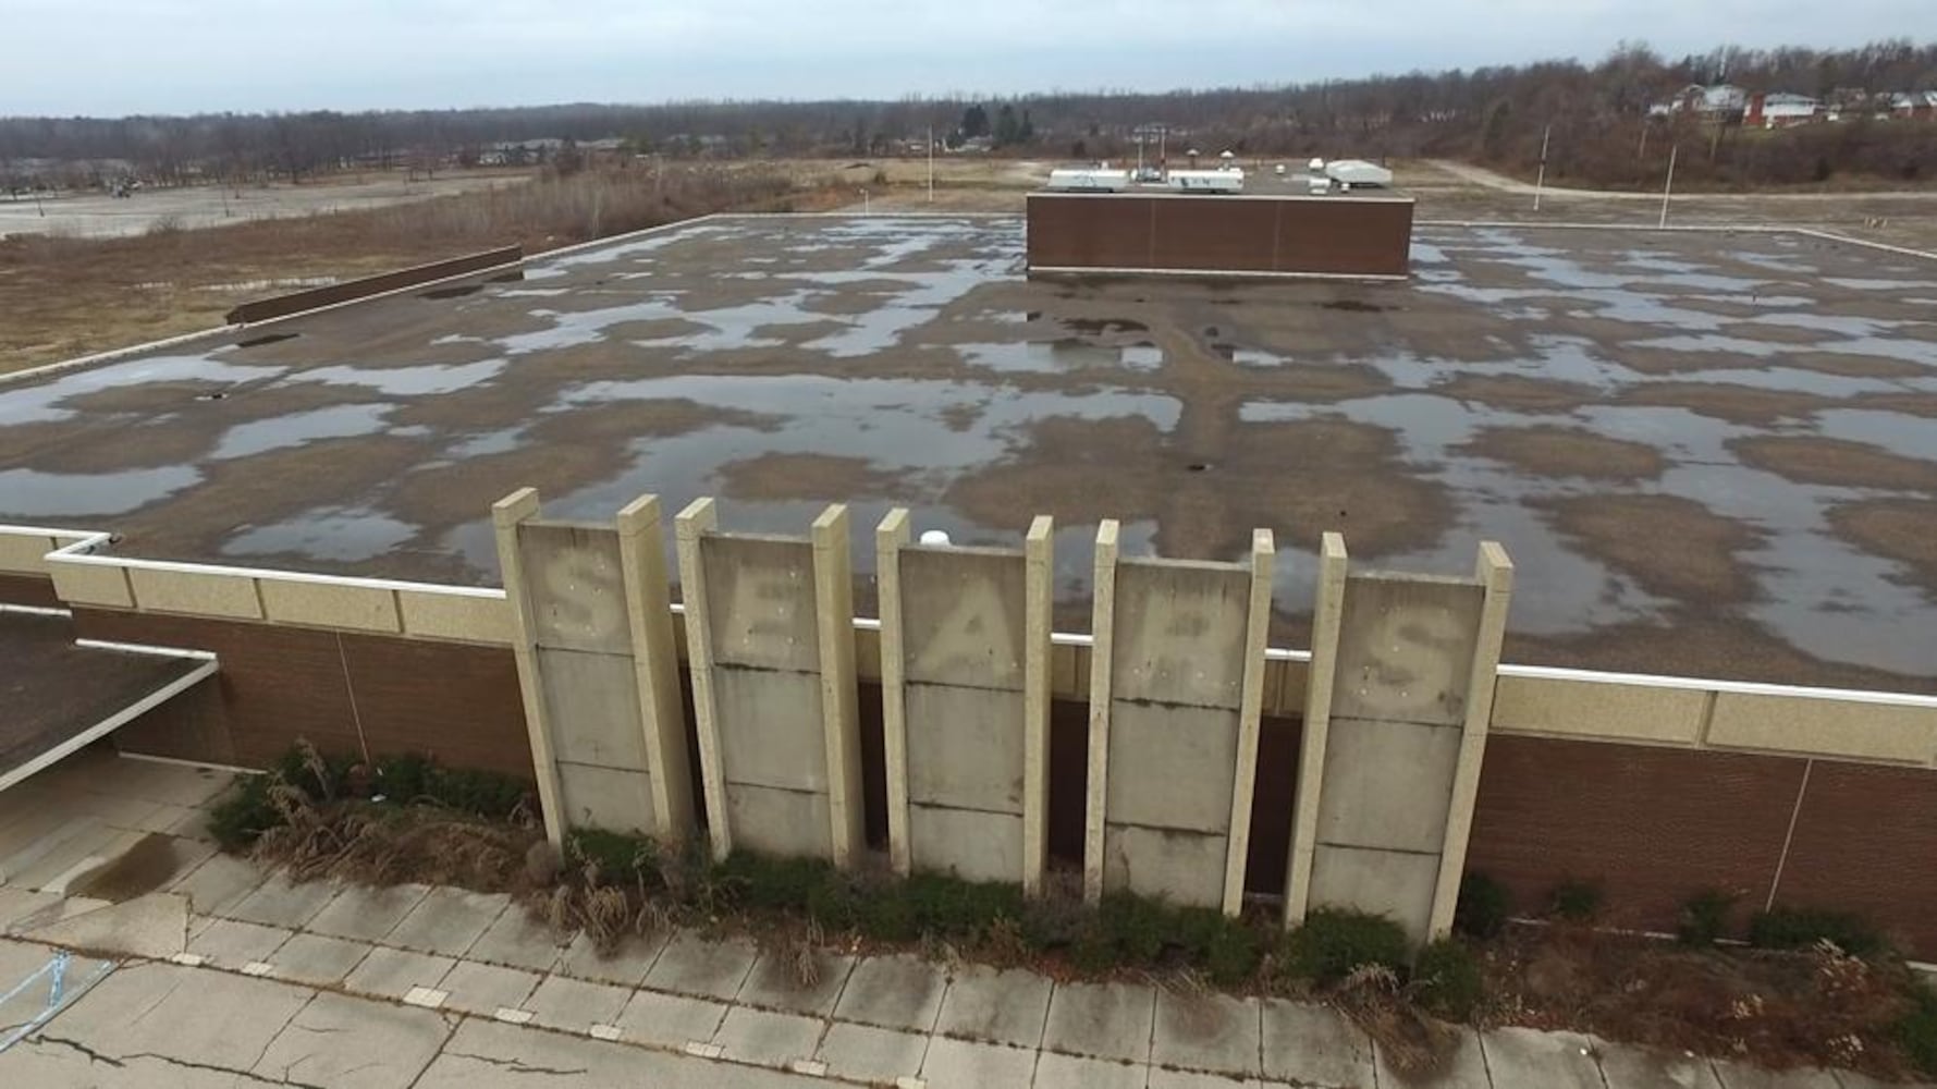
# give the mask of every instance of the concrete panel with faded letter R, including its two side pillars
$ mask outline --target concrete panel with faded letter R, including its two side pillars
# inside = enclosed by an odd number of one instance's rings
[[[1236,913],[1257,777],[1271,535],[1251,564],[1096,546],[1085,891]],[[1104,663],[1108,667],[1104,669]]]

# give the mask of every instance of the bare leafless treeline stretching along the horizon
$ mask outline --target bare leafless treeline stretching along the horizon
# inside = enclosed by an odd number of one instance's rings
[[[1836,124],[1751,132],[1741,116],[1652,116],[1691,83],[1811,95]],[[537,140],[622,140],[624,155],[889,155],[930,134],[951,147],[982,134],[1003,153],[1127,157],[1139,126],[1168,128],[1170,153],[1197,145],[1244,157],[1445,155],[1575,184],[1656,184],[1670,147],[1687,180],[1819,182],[1840,174],[1925,178],[1937,126],[1879,120],[1889,95],[1937,89],[1937,45],[1885,41],[1846,50],[1716,48],[1662,58],[1623,43],[1604,60],[1538,62],[1280,87],[1040,93],[1015,99],[723,101],[649,107],[0,118],[0,174],[50,163],[112,163],[159,182],[294,178],[349,165],[492,161]],[[1151,147],[1154,151],[1154,147]],[[31,167],[31,171],[27,169]],[[1679,178],[1681,174],[1677,174]]]

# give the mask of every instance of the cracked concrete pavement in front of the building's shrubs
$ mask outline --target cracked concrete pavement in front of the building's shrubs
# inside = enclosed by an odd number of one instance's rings
[[[110,765],[89,781],[105,789],[105,775],[139,777],[143,820],[118,820],[145,827],[165,818],[180,843],[157,856],[178,870],[122,903],[62,893],[56,880],[0,886],[0,1042],[27,1029],[0,1050],[0,1085],[1402,1085],[1379,1048],[1325,1006],[833,951],[819,953],[804,982],[788,957],[742,940],[678,930],[599,957],[502,895],[292,886],[215,855],[194,820],[147,812],[196,808],[209,785],[190,775],[205,773]],[[99,798],[122,789],[136,783]],[[87,804],[99,808],[99,798]],[[41,872],[68,880],[87,870],[64,858],[17,870]],[[58,998],[46,971],[56,948],[105,957],[68,959]],[[1571,1033],[1466,1029],[1445,1077],[1428,1085],[1873,1083]]]

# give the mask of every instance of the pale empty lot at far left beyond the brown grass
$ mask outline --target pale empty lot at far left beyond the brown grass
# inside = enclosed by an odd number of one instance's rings
[[[461,192],[517,186],[531,178],[533,171],[455,171],[436,178],[411,178],[403,171],[372,171],[300,186],[287,182],[188,186],[139,190],[126,200],[107,194],[0,200],[0,238],[8,234],[126,238],[147,234],[157,227],[223,227],[252,219],[387,207]]]

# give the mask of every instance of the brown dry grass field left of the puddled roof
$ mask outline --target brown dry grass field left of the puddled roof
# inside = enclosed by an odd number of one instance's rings
[[[819,209],[825,182],[761,165],[544,176],[416,203],[136,238],[0,242],[0,372],[223,324],[238,302],[521,242],[527,254],[709,211]],[[296,283],[292,283],[296,281]]]

